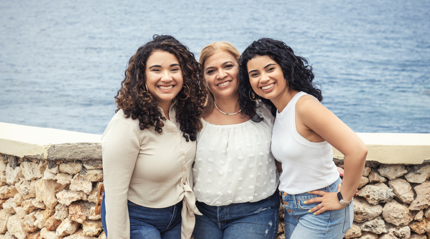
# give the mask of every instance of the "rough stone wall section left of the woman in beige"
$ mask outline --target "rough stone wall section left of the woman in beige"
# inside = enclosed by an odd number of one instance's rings
[[[105,239],[95,215],[101,159],[0,153],[0,239]]]

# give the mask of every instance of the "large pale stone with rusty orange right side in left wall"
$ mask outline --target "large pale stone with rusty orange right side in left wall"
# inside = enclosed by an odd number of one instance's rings
[[[35,186],[37,201],[43,201],[47,208],[54,208],[57,205],[58,201],[55,193],[58,193],[65,187],[65,185],[58,184],[52,179],[38,179]]]

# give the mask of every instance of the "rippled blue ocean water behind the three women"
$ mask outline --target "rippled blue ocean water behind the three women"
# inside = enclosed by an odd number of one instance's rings
[[[172,34],[198,57],[260,37],[309,59],[355,132],[430,133],[430,1],[0,1],[0,122],[102,134],[138,46]]]

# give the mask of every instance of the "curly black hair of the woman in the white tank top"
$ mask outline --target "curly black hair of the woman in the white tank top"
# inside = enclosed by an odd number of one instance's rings
[[[250,92],[255,94],[249,83],[248,68],[246,64],[256,56],[268,55],[273,61],[276,61],[284,73],[284,78],[287,80],[289,88],[296,91],[303,91],[309,95],[313,95],[319,101],[322,101],[321,89],[318,82],[313,82],[315,78],[312,72],[312,66],[309,65],[306,58],[295,55],[291,47],[287,46],[284,42],[273,40],[271,38],[260,38],[249,45],[243,51],[239,62],[239,92],[240,92],[240,106],[244,113],[246,113],[254,122],[263,120],[257,113],[255,113],[255,101],[249,98]],[[272,101],[260,97],[264,104],[272,106],[271,113],[276,116],[276,107]]]

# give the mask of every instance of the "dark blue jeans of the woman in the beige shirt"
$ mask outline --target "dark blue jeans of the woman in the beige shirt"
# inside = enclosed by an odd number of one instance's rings
[[[127,200],[130,239],[181,239],[182,201],[167,208],[147,208]],[[106,208],[101,203],[101,224],[106,233]]]

